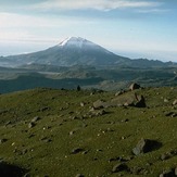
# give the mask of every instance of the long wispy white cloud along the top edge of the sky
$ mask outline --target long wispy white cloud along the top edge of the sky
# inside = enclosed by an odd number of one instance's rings
[[[96,9],[102,11],[109,11],[122,8],[147,8],[147,7],[157,7],[161,3],[152,1],[132,1],[132,0],[47,0],[43,3],[38,3],[35,5],[37,9],[41,10],[85,10],[85,9]]]

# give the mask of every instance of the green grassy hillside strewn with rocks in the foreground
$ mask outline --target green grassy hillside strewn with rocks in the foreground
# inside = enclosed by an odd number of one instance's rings
[[[0,176],[12,167],[13,176],[174,174],[177,87],[146,88],[121,97],[135,92],[143,96],[146,108],[96,110],[96,101],[119,96],[93,90],[38,88],[1,94]],[[132,149],[142,138],[155,143],[147,153],[135,155]]]

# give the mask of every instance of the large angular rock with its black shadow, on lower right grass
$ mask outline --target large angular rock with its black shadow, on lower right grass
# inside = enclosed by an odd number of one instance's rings
[[[162,143],[157,141],[142,138],[141,140],[138,141],[136,148],[132,149],[132,153],[135,155],[139,155],[159,149],[161,146]]]

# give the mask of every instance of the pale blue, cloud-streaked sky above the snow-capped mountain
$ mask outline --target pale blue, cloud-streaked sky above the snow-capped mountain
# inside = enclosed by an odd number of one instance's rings
[[[0,55],[83,37],[131,59],[177,62],[177,0],[0,0]]]

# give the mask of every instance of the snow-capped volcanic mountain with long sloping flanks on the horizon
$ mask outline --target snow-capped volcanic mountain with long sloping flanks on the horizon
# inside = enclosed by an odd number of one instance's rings
[[[28,54],[1,56],[0,66],[21,67],[22,65],[41,64],[54,66],[131,66],[152,67],[170,66],[173,63],[161,61],[149,61],[144,59],[130,60],[129,58],[116,55],[113,52],[80,37],[69,37],[43,51]]]

